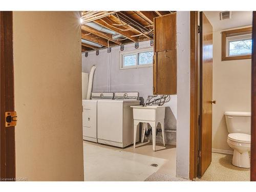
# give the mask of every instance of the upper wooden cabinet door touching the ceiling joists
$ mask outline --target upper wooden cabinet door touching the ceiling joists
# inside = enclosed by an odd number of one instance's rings
[[[154,52],[176,49],[176,13],[154,18]]]

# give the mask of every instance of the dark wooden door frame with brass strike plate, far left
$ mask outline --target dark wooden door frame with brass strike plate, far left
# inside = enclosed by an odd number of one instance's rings
[[[5,112],[14,111],[12,11],[0,11],[0,179],[15,181],[15,131]]]

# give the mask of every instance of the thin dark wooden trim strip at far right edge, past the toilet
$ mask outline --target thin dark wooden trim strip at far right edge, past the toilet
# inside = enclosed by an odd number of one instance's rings
[[[256,181],[256,12],[252,20],[252,60],[251,60],[251,170],[250,180]]]

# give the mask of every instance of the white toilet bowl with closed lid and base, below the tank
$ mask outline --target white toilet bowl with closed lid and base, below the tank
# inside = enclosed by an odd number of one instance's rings
[[[242,133],[228,134],[227,144],[234,150],[232,165],[243,168],[250,168],[250,137],[250,135]]]

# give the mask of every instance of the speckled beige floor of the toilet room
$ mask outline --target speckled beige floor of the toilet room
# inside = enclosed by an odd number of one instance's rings
[[[232,155],[212,153],[212,161],[201,179],[196,181],[250,181],[250,169],[231,164]]]

